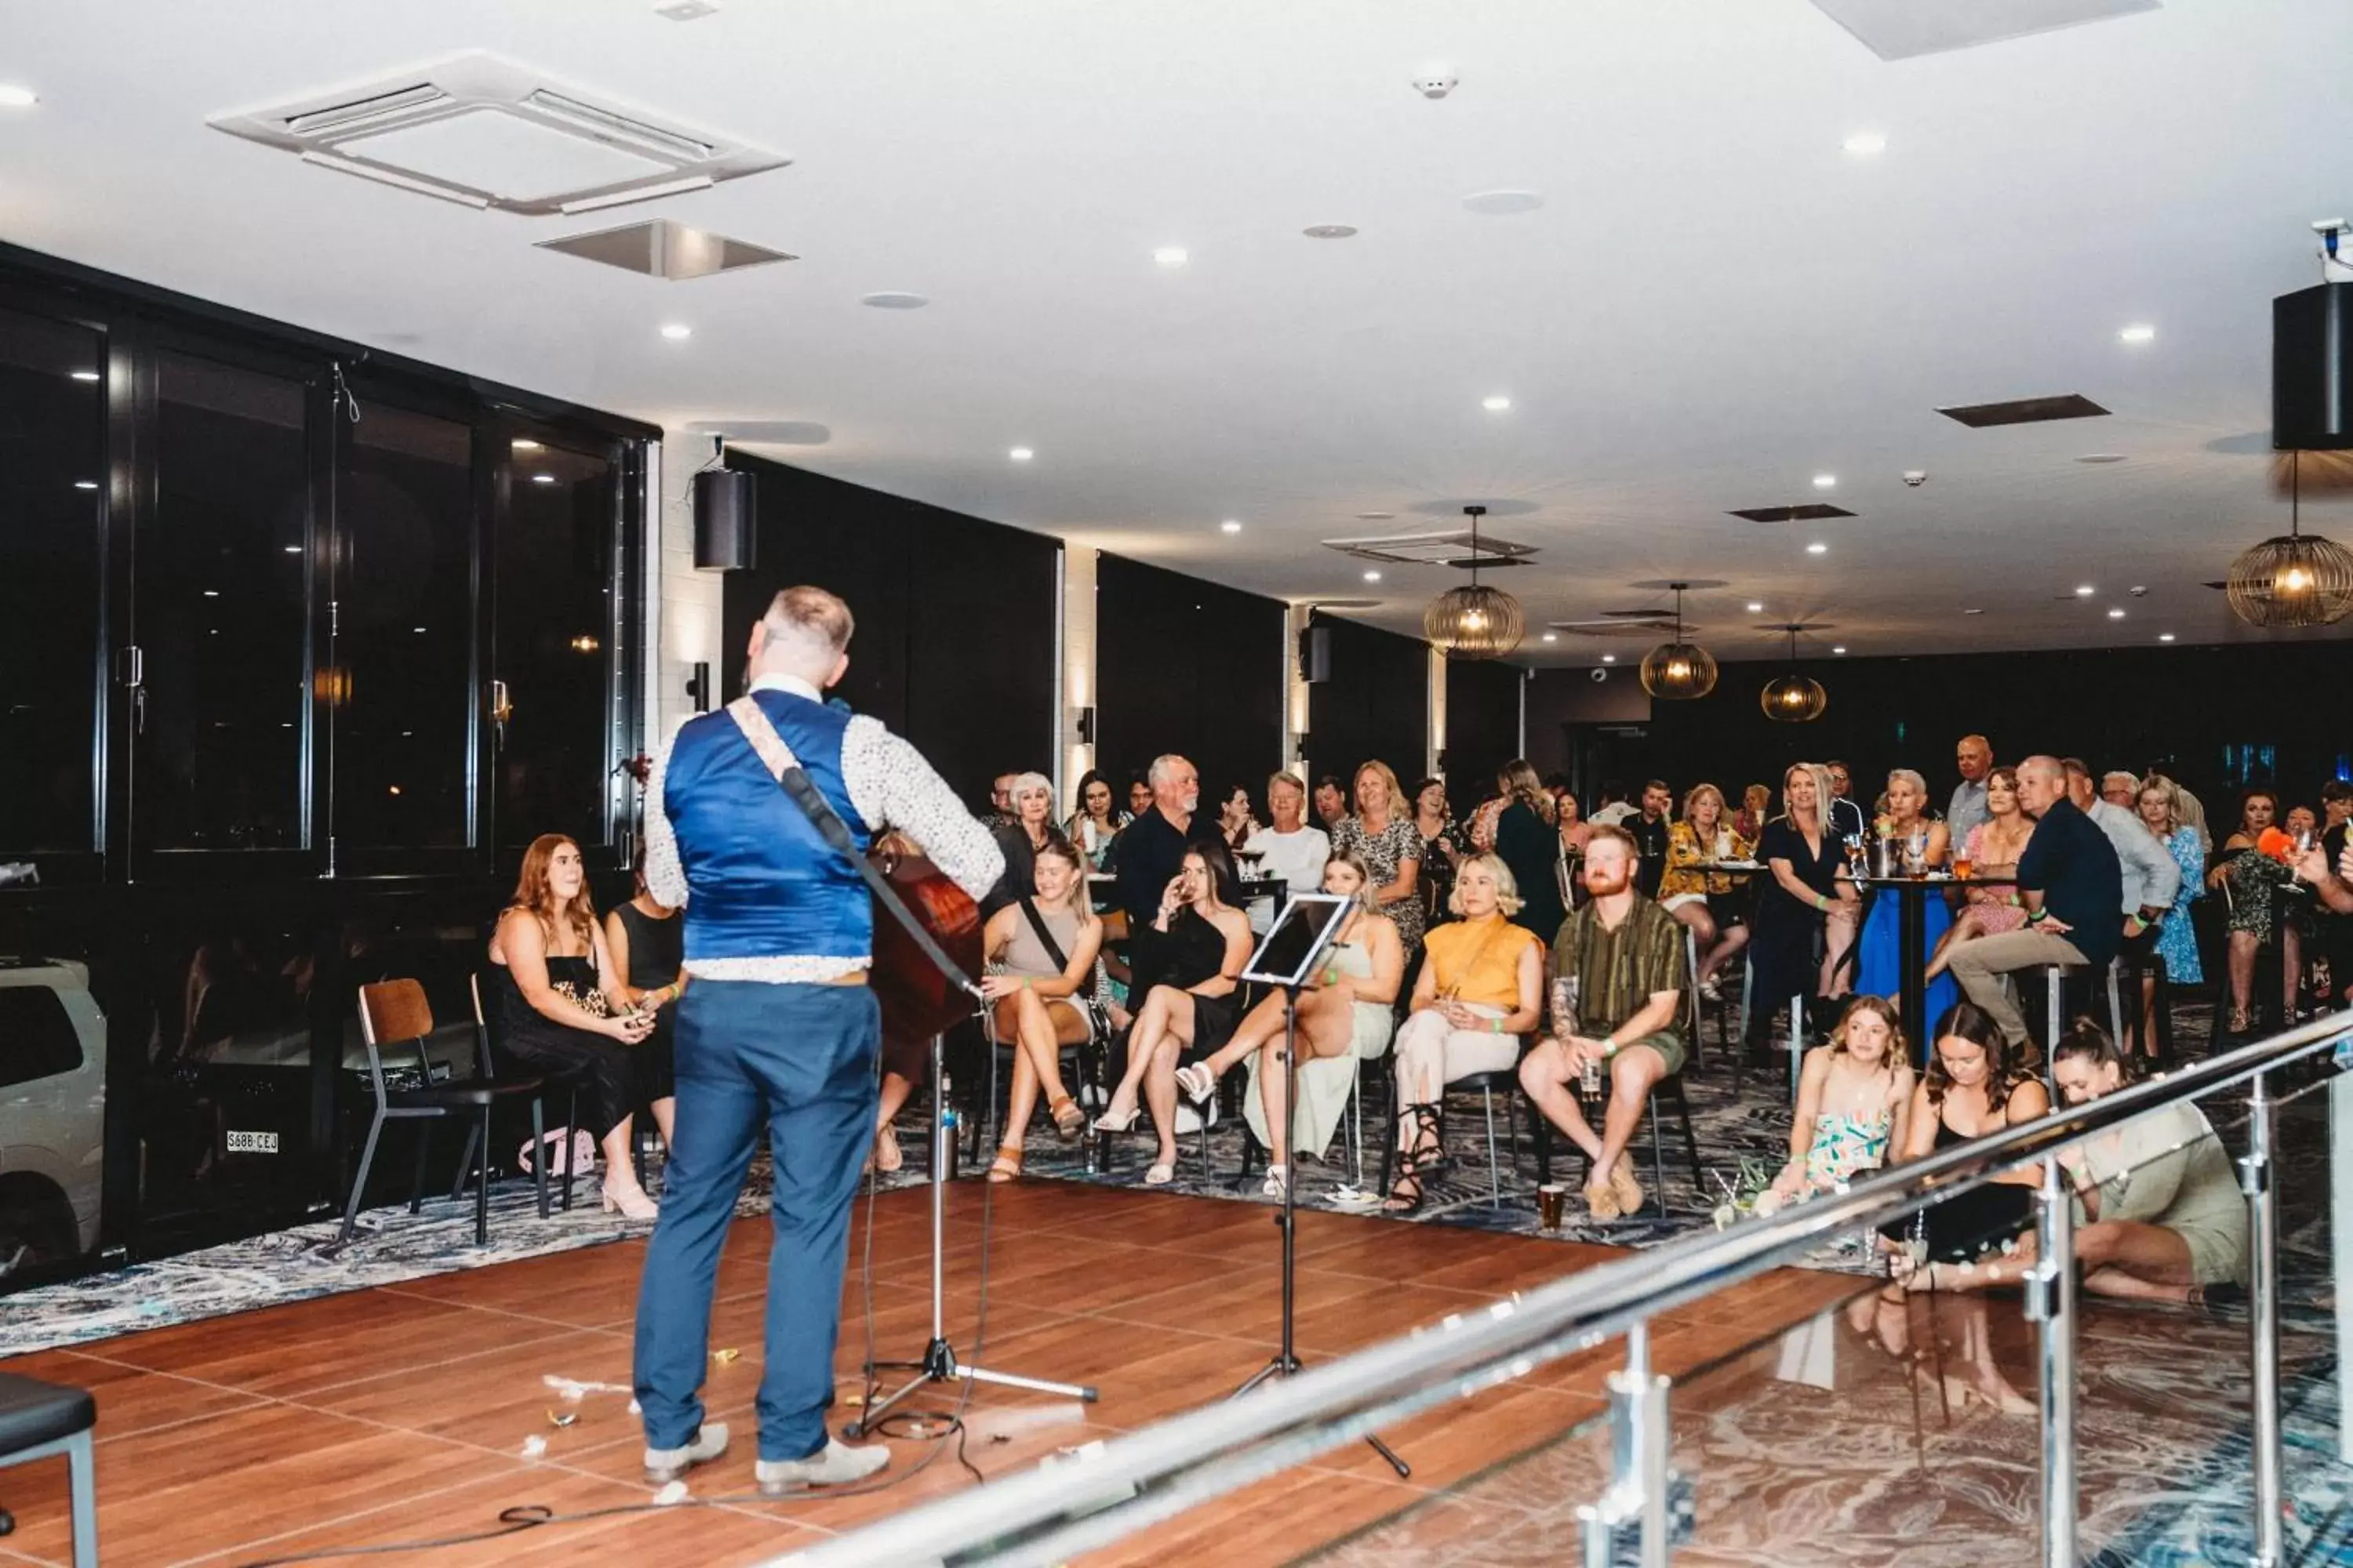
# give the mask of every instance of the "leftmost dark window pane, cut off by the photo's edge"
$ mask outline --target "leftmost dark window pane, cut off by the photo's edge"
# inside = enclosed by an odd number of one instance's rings
[[[92,851],[106,343],[0,310],[0,860]]]

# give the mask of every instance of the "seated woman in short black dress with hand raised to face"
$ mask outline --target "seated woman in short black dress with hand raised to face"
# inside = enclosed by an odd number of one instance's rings
[[[1127,1072],[1094,1131],[1125,1133],[1141,1114],[1139,1100],[1151,1105],[1160,1150],[1144,1171],[1146,1187],[1176,1178],[1176,1067],[1224,1046],[1240,1013],[1235,976],[1249,961],[1252,936],[1233,893],[1224,844],[1193,844],[1160,891],[1151,938],[1139,933],[1129,997],[1144,1004],[1127,1034]]]

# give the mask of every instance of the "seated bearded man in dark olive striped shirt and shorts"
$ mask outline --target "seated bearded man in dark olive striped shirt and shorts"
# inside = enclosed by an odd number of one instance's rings
[[[1520,1086],[1544,1119],[1593,1159],[1586,1206],[1595,1220],[1642,1208],[1626,1143],[1642,1124],[1642,1107],[1659,1079],[1682,1072],[1692,1018],[1685,1013],[1682,924],[1633,886],[1635,846],[1624,827],[1595,827],[1586,844],[1591,900],[1560,924],[1553,976],[1572,980],[1569,1016],[1553,1018],[1553,1034],[1520,1063]],[[1602,1131],[1593,1133],[1569,1084],[1586,1063],[1609,1079]]]

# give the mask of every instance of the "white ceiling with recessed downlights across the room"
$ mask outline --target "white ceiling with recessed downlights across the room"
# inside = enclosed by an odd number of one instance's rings
[[[205,127],[456,49],[793,165],[527,219]],[[19,5],[0,82],[42,101],[0,110],[0,235],[673,425],[809,421],[824,444],[767,451],[1287,599],[1386,595],[1358,614],[1400,630],[1459,574],[1372,588],[1318,541],[1489,501],[1541,545],[1508,574],[1532,621],[1725,578],[1692,597],[1722,658],[1791,616],[1857,656],[2217,642],[2257,632],[2200,583],[2287,529],[2268,301],[2353,207],[2348,59],[2344,0],[2165,0],[1901,63],[1807,0]],[[1407,85],[1433,61],[1445,101]],[[1845,153],[1866,129],[1887,150]],[[1492,188],[1544,207],[1464,209]],[[802,261],[661,282],[532,244],[640,216]],[[2042,393],[2115,414],[1932,411]],[[1861,517],[1725,515],[1814,498]],[[2306,498],[2306,527],[2353,536],[2353,505]]]

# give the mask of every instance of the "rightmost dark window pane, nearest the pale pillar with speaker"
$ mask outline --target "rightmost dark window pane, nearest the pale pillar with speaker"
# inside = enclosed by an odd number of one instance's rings
[[[499,849],[609,842],[612,541],[605,454],[515,442],[499,529]]]

